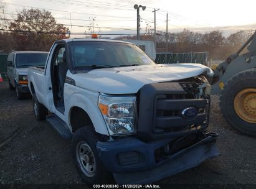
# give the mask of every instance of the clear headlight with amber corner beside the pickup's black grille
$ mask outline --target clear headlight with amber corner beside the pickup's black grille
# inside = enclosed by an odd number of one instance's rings
[[[103,96],[98,99],[98,107],[108,127],[110,135],[134,134],[136,116],[135,96]]]

